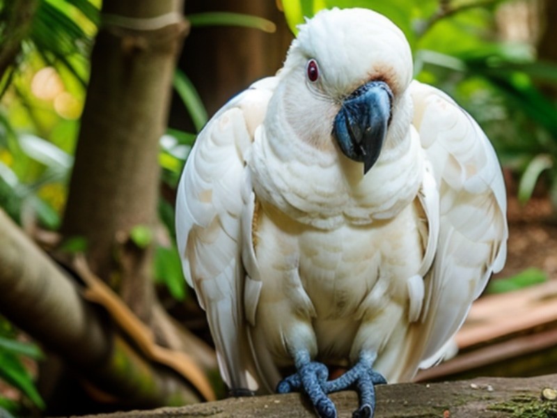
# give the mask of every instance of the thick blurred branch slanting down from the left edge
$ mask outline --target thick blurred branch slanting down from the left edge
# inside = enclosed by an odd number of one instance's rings
[[[198,402],[185,380],[146,362],[0,210],[0,311],[102,392],[135,408]]]

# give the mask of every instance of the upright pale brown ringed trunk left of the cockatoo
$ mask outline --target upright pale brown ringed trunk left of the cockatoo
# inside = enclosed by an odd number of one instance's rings
[[[104,1],[91,57],[62,232],[88,242],[92,270],[150,322],[150,246],[130,230],[155,224],[159,138],[187,25],[182,0]]]

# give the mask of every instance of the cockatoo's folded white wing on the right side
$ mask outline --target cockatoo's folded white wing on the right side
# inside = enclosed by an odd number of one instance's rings
[[[462,325],[471,303],[505,261],[508,229],[501,167],[471,116],[445,93],[411,84],[414,127],[439,193],[437,250],[425,277],[425,309],[413,332],[414,355],[430,366]],[[416,357],[414,357],[415,359]]]

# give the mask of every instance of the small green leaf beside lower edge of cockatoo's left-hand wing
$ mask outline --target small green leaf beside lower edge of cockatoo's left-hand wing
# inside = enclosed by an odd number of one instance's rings
[[[175,248],[157,247],[155,249],[155,279],[166,284],[175,300],[184,300],[186,286],[182,275],[180,256]]]

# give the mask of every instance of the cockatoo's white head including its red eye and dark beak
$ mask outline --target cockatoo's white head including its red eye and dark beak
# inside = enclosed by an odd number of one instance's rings
[[[340,151],[366,173],[409,128],[408,42],[393,22],[362,8],[322,10],[299,27],[279,77],[282,111],[297,137]]]

